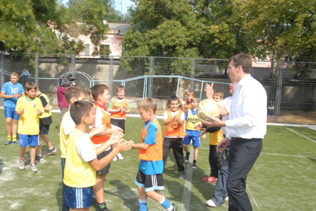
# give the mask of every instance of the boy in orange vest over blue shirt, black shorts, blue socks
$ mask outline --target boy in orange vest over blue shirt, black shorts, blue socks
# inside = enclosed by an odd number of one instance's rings
[[[155,190],[163,187],[162,134],[160,124],[155,116],[157,104],[153,99],[145,98],[138,105],[138,111],[144,120],[141,142],[134,144],[139,149],[138,174],[135,183],[139,193],[139,211],[147,211],[147,197],[154,199],[167,211],[176,211],[177,206],[171,204]]]

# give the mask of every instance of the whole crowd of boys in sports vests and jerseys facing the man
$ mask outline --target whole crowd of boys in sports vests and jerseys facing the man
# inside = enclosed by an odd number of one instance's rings
[[[203,181],[216,182],[224,163],[224,153],[216,152],[216,145],[224,135],[221,128],[207,128],[201,124],[197,117],[199,98],[192,91],[187,93],[183,110],[179,109],[179,98],[170,97],[170,109],[164,112],[162,120],[162,124],[166,126],[164,140],[156,118],[157,103],[150,98],[141,101],[138,111],[144,125],[141,140],[137,141],[139,143],[123,139],[126,113],[130,113],[130,105],[124,96],[124,86],[118,86],[116,94],[117,96],[111,99],[109,87],[97,84],[89,88],[89,100],[85,101],[86,93],[79,86],[70,86],[65,90],[65,100],[69,107],[62,117],[59,131],[63,181],[62,211],[89,210],[92,201],[97,203],[97,211],[110,211],[104,201],[104,180],[109,174],[111,161],[123,159],[120,152],[129,149],[139,150],[139,171],[135,180],[139,191],[139,210],[147,211],[149,197],[167,211],[176,211],[177,206],[156,191],[164,189],[162,173],[169,152],[172,149],[179,178],[184,179],[184,162],[189,162],[190,158],[188,145],[192,142],[192,169],[197,169],[200,136],[206,132],[210,133],[211,174],[204,177]],[[4,98],[7,130],[5,144],[20,144],[19,170],[25,169],[25,151],[29,145],[30,170],[36,173],[38,169],[35,163],[43,160],[41,140],[48,147],[44,155],[50,155],[57,150],[47,137],[52,124],[50,101],[34,83],[28,82],[23,88],[18,83],[18,74],[15,72],[11,73],[10,82],[2,87],[0,97]],[[212,98],[216,102],[222,101],[223,92],[214,91]],[[16,139],[17,133],[19,141]],[[185,157],[183,150],[186,152]]]

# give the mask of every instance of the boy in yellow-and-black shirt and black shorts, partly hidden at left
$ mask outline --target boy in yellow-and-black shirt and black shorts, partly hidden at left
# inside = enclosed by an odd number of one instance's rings
[[[50,155],[51,153],[57,151],[57,149],[51,145],[48,137],[45,136],[45,135],[48,135],[49,126],[52,123],[52,119],[51,119],[52,106],[50,105],[50,101],[49,101],[47,95],[41,93],[38,86],[37,86],[37,90],[36,90],[36,95],[40,99],[41,104],[44,107],[44,112],[40,116],[40,139],[39,139],[39,141],[43,140],[46,143],[46,145],[48,146],[48,149],[46,150],[44,155]],[[39,161],[42,161],[44,159],[42,154],[41,154],[41,147],[42,147],[42,144],[40,141],[40,145],[38,146],[38,154],[35,157],[35,162],[39,162]]]

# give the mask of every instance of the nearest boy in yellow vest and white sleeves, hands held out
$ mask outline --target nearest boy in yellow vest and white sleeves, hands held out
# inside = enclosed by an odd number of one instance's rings
[[[108,165],[118,152],[130,149],[133,142],[124,141],[123,133],[119,132],[96,148],[86,134],[87,126],[92,125],[95,118],[93,105],[87,101],[73,103],[70,107],[70,116],[76,127],[69,135],[63,180],[64,198],[70,211],[90,211],[95,171]],[[103,159],[97,159],[97,155],[111,144],[116,145],[111,153]]]

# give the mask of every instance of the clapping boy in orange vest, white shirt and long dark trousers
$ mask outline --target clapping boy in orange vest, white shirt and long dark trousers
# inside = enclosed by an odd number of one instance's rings
[[[163,140],[163,167],[167,163],[170,149],[176,159],[179,179],[184,179],[184,161],[183,161],[183,123],[184,113],[179,110],[180,101],[177,96],[171,96],[169,99],[170,109],[164,112],[162,124],[166,126]]]

